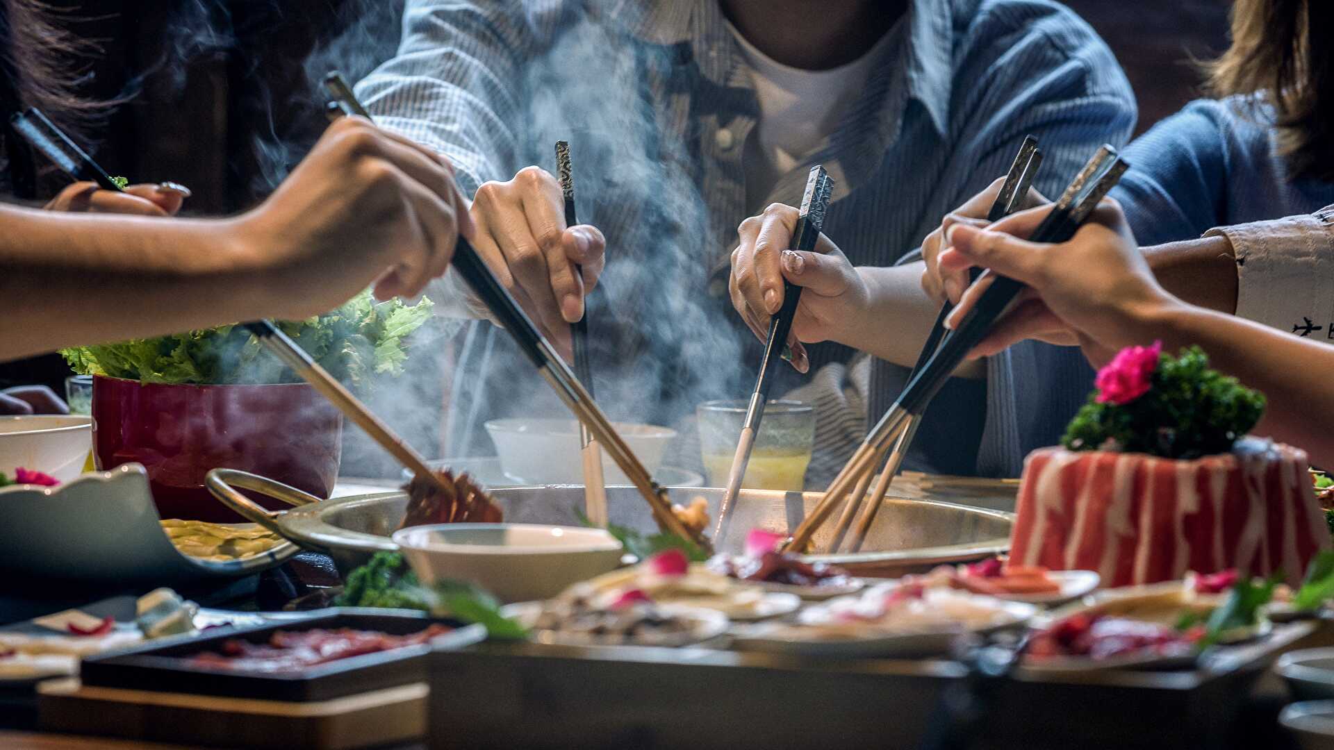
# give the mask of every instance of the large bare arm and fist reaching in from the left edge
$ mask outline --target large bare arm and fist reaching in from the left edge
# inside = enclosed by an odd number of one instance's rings
[[[472,232],[448,161],[362,119],[331,125],[231,219],[0,206],[0,360],[256,318],[300,319],[370,283],[415,295]],[[392,268],[392,270],[391,270]]]

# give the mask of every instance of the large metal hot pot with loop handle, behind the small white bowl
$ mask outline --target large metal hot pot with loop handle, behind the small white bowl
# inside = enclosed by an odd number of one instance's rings
[[[271,494],[300,507],[284,512],[265,511],[228,484]],[[301,498],[304,492],[276,482],[232,470],[211,472],[209,488],[232,510],[251,520],[277,531],[301,547],[328,554],[343,574],[364,563],[374,552],[398,550],[390,535],[403,522],[407,507],[404,492],[317,500],[311,495]],[[723,495],[720,488],[700,487],[670,487],[668,492],[672,502],[680,504],[688,504],[698,496],[707,499],[712,518],[716,518],[718,502]],[[507,487],[492,491],[492,496],[511,523],[578,524],[575,510],[582,508],[584,500],[583,487],[578,484]],[[719,551],[739,552],[746,531],[755,527],[791,531],[822,496],[820,492],[742,490],[731,520],[735,532],[715,539],[715,547]],[[648,503],[634,487],[607,487],[607,508],[611,523],[639,531],[655,528]],[[866,551],[810,555],[808,559],[834,562],[856,575],[896,578],[940,563],[976,560],[1005,552],[1010,547],[1013,524],[1014,514],[1005,511],[887,498],[875,518],[875,526],[867,534],[863,546]],[[815,548],[828,543],[831,527],[832,524],[826,524],[815,535]]]

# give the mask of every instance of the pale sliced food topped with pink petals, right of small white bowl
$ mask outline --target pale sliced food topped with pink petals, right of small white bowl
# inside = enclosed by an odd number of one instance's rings
[[[627,599],[702,607],[731,619],[760,619],[794,611],[800,602],[746,586],[703,565],[691,565],[680,550],[666,550],[643,563],[576,585],[571,598],[594,609],[615,610]]]

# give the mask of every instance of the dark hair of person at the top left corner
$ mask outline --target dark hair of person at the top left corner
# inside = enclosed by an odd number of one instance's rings
[[[12,192],[35,198],[36,171],[9,116],[37,107],[76,139],[96,124],[105,103],[79,96],[77,81],[95,45],[57,25],[59,11],[41,0],[0,0],[0,153]]]

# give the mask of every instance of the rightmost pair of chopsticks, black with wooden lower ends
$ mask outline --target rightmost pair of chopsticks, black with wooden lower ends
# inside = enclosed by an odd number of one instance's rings
[[[1057,200],[1051,212],[1042,220],[1033,232],[1033,242],[1061,243],[1069,240],[1078,231],[1079,226],[1093,214],[1098,202],[1121,179],[1126,171],[1117,151],[1110,145],[1103,145],[1085,164],[1083,169],[1070,183],[1070,187]],[[848,490],[859,480],[864,471],[874,471],[876,458],[892,440],[903,435],[908,422],[920,416],[931,398],[940,390],[954,370],[967,356],[978,343],[986,338],[991,326],[1006,312],[1014,298],[1023,290],[1023,284],[984,271],[983,278],[992,276],[992,284],[982,294],[978,303],[968,311],[958,328],[951,334],[940,348],[935,351],[922,370],[908,380],[907,387],[899,394],[894,406],[886,411],[866,440],[852,454],[843,470],[830,483],[824,498],[802,520],[788,540],[787,548],[803,550],[810,543],[815,531],[828,519],[839,503],[843,502]],[[903,446],[902,450],[906,450]]]

